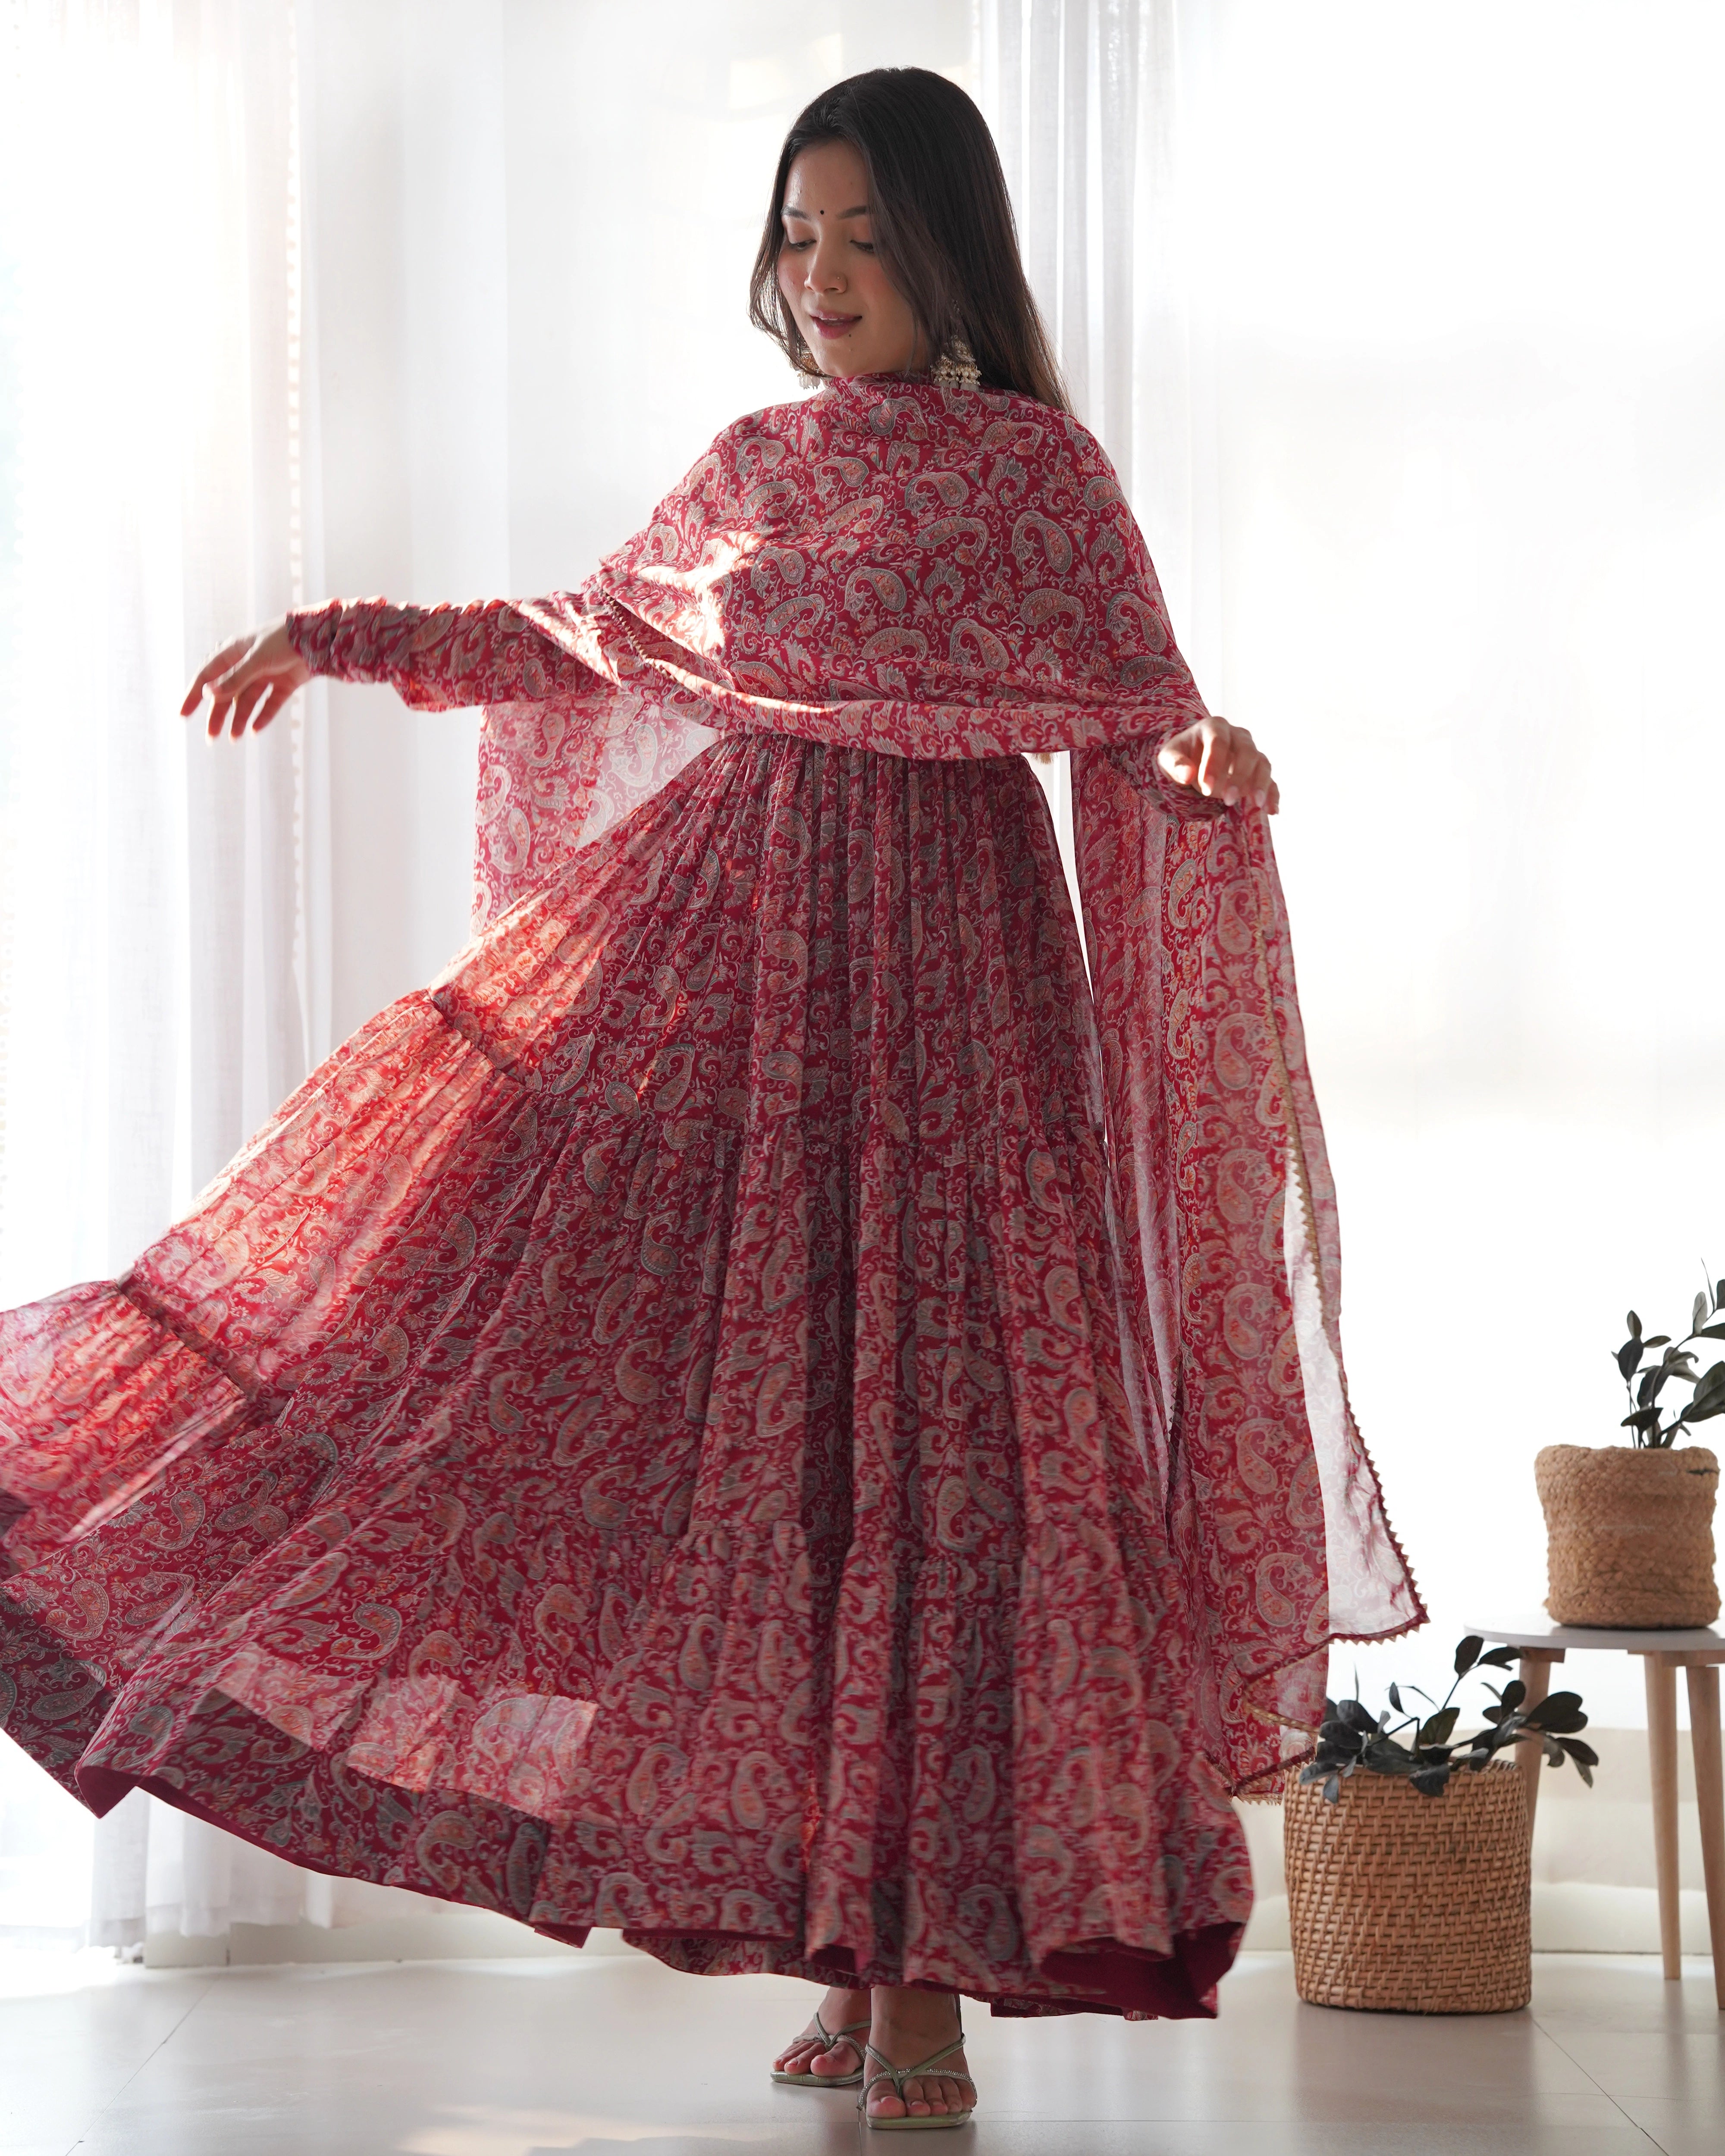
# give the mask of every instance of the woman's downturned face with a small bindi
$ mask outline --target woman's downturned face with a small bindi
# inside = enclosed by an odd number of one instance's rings
[[[791,164],[778,291],[824,375],[899,375],[923,360],[910,302],[875,257],[869,175],[850,142],[817,142]]]

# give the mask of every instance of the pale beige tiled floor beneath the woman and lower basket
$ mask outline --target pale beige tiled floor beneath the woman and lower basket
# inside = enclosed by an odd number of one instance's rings
[[[731,2156],[895,2143],[774,2089],[804,1986],[647,1960],[123,1971],[0,2001],[6,2156]],[[1216,2022],[972,2012],[977,2156],[1719,2156],[1712,1968],[1544,1955],[1529,2014],[1294,1999],[1248,1955]],[[919,2143],[921,2145],[921,2143]]]

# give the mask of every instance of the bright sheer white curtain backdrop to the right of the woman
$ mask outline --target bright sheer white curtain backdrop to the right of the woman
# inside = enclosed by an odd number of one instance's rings
[[[1434,1606],[1725,1268],[1725,17],[983,0],[1033,282],[1214,709],[1276,757],[1361,1423]],[[1675,1326],[1682,1330],[1682,1326]],[[1343,1654],[1343,1680],[1354,1654]],[[1585,1658],[1596,1720],[1639,1677]]]

